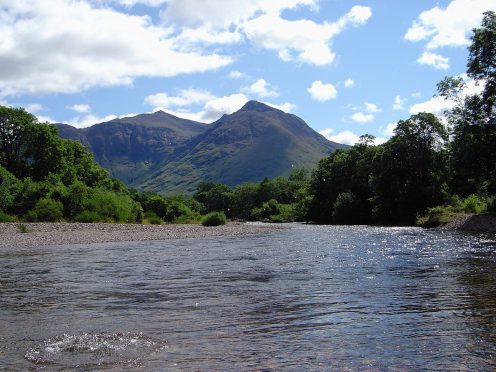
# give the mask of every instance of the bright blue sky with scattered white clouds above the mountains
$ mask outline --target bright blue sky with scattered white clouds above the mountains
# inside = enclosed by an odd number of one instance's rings
[[[0,0],[0,104],[82,128],[258,100],[332,141],[442,114],[494,0]]]

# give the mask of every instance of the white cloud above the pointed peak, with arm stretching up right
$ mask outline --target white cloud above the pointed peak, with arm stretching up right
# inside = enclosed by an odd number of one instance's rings
[[[307,19],[289,21],[278,13],[266,13],[247,21],[243,31],[255,45],[277,51],[283,61],[297,59],[322,66],[335,58],[330,40],[349,25],[361,25],[371,16],[371,9],[362,6],[354,6],[334,23],[322,24]]]

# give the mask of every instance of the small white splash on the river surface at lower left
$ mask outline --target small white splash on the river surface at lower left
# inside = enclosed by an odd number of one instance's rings
[[[37,365],[65,368],[139,366],[148,355],[164,348],[165,342],[142,333],[63,334],[43,341],[28,350],[24,357]]]

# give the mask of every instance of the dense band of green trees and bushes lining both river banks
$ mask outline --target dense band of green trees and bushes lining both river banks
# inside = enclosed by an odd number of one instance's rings
[[[469,80],[479,93],[467,94]],[[186,223],[220,212],[241,220],[434,226],[459,212],[495,213],[494,12],[474,30],[466,77],[447,77],[437,88],[455,103],[442,120],[412,115],[386,143],[364,135],[312,173],[295,169],[234,188],[203,182],[193,197],[128,189],[55,126],[0,106],[0,221]]]

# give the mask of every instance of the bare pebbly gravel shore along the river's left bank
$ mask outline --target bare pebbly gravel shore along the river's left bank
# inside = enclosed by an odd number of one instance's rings
[[[139,225],[111,223],[19,223],[0,224],[0,248],[43,245],[91,244],[120,241],[205,238],[266,234],[284,229],[270,224],[230,222],[224,226],[202,225]]]

